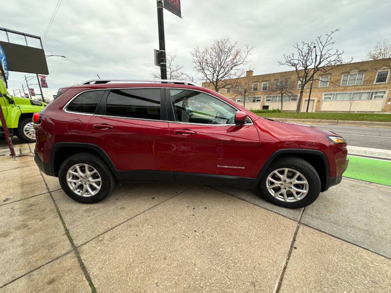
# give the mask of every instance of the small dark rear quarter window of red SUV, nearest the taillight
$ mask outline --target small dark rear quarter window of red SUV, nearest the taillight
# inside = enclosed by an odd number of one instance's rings
[[[81,93],[67,107],[70,112],[94,114],[105,90],[91,90]]]

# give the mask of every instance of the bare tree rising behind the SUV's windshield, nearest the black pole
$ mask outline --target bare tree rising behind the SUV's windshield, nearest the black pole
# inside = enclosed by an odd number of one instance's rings
[[[196,47],[191,54],[195,71],[218,91],[228,85],[232,86],[233,79],[243,76],[243,66],[248,63],[252,49],[248,46],[239,48],[237,42],[221,39],[213,41],[210,47]]]

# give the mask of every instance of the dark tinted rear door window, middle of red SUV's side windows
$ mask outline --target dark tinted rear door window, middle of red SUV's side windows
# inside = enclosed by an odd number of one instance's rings
[[[107,97],[106,115],[161,120],[160,88],[113,89]]]

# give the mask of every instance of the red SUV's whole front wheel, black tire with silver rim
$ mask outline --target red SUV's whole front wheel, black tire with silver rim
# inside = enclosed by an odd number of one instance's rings
[[[298,209],[319,196],[321,181],[315,168],[300,158],[281,158],[267,168],[259,183],[263,197],[284,208]]]

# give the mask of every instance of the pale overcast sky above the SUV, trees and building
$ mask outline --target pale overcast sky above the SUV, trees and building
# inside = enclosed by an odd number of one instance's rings
[[[56,4],[57,0],[5,1],[0,26],[43,36]],[[190,52],[217,38],[253,46],[247,67],[254,68],[255,75],[290,70],[278,65],[283,53],[292,52],[296,42],[310,42],[335,28],[340,28],[335,46],[345,51],[344,59],[353,57],[356,62],[379,39],[391,39],[391,1],[181,0],[181,8],[183,19],[164,10],[166,50],[197,78],[201,76],[194,72]],[[1,32],[0,40],[6,40]],[[10,42],[24,40],[11,36]],[[153,49],[158,49],[156,1],[63,0],[43,48],[45,54],[66,56],[47,59],[49,89],[44,96],[96,74],[151,79],[158,73],[153,65]],[[10,72],[10,93],[21,88],[23,76]]]

